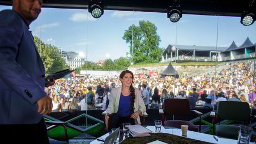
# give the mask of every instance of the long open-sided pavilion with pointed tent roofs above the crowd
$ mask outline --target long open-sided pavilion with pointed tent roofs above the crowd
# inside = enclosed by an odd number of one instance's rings
[[[237,46],[233,41],[229,47],[168,45],[163,52],[162,62],[171,61],[227,61],[252,59],[255,55],[256,43],[247,37],[244,43]]]

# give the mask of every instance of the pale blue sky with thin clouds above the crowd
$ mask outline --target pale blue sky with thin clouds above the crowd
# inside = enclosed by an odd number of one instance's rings
[[[11,6],[0,5],[0,10]],[[129,44],[122,39],[124,31],[139,20],[148,20],[157,27],[162,42],[159,47],[175,44],[177,26],[178,45],[229,46],[233,41],[239,46],[247,36],[256,43],[256,24],[245,27],[239,17],[219,17],[183,14],[177,23],[167,19],[166,13],[104,11],[99,19],[92,18],[87,10],[46,9],[31,25],[33,35],[45,43],[61,47],[63,51],[84,52],[88,60],[126,57]],[[49,39],[49,41],[47,41]],[[52,41],[50,41],[52,39]]]

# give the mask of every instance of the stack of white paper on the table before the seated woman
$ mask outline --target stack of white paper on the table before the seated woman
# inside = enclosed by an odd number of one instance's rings
[[[132,137],[146,137],[150,136],[149,133],[152,133],[152,131],[148,130],[146,127],[136,124],[130,126],[130,133]]]

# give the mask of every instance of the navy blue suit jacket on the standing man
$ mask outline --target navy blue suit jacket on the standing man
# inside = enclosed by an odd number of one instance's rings
[[[34,38],[19,13],[0,12],[0,124],[35,124],[42,119],[45,71]]]

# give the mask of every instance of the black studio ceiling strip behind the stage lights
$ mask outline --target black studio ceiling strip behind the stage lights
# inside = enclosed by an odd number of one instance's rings
[[[43,7],[87,9],[89,0],[43,0]],[[173,1],[153,0],[104,0],[105,10],[143,11],[166,13]],[[11,5],[11,0],[1,0],[0,5]],[[256,11],[255,0],[180,0],[183,14],[223,15],[240,17],[251,5]]]

